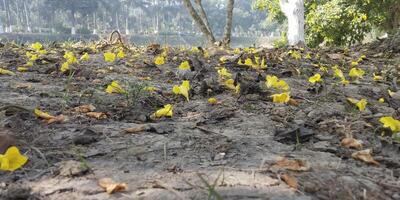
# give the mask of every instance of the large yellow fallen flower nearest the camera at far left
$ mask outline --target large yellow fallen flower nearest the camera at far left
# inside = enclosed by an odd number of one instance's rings
[[[0,154],[0,170],[15,171],[25,165],[27,161],[28,157],[21,155],[19,149],[12,146],[4,155]]]

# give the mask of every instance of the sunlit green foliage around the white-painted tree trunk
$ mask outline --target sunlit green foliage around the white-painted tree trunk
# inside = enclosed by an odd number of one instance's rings
[[[279,0],[256,0],[254,8],[268,10],[268,19],[283,22]],[[305,1],[306,41],[309,46],[350,45],[372,28],[396,30],[400,25],[398,0]]]

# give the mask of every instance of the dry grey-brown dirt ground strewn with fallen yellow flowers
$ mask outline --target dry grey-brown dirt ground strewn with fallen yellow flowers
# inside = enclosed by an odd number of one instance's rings
[[[13,136],[29,157],[22,169],[0,172],[0,199],[400,199],[400,143],[379,122],[400,117],[400,98],[387,92],[398,90],[398,47],[292,50],[301,58],[289,49],[209,49],[205,58],[202,49],[169,48],[166,63],[157,66],[154,57],[165,51],[157,45],[125,50],[125,58],[112,63],[103,52],[113,46],[98,52],[89,46],[45,45],[48,53],[27,72],[17,67],[27,62],[29,46],[0,48],[0,67],[15,73],[0,75],[0,134]],[[61,73],[65,51],[78,58],[88,52],[90,59]],[[237,64],[254,55],[268,67]],[[351,80],[350,64],[362,55],[357,67],[366,74]],[[191,70],[178,70],[186,60]],[[336,64],[350,84],[333,77]],[[218,66],[240,83],[239,94],[221,84]],[[324,81],[313,85],[308,77],[317,72]],[[373,73],[383,80],[374,81]],[[265,87],[266,75],[288,83],[290,104],[271,101],[275,92]],[[106,93],[114,80],[131,96]],[[190,80],[189,102],[172,93],[182,80]],[[208,103],[210,97],[218,103]],[[350,97],[366,99],[366,109],[359,111]],[[89,104],[105,116],[74,110]],[[166,104],[173,105],[173,117],[151,116]],[[34,108],[65,119],[47,124]],[[349,137],[362,147],[341,145]],[[365,149],[379,164],[352,157]],[[301,166],[277,164],[281,160]],[[126,183],[127,190],[107,194],[101,178]]]

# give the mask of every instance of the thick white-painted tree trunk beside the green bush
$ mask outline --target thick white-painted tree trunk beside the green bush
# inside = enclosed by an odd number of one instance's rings
[[[288,19],[289,45],[304,45],[304,1],[280,0],[280,7]]]

